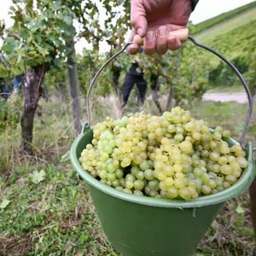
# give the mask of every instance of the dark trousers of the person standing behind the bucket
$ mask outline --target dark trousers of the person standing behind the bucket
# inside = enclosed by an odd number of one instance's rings
[[[123,86],[123,101],[124,105],[127,103],[128,98],[131,93],[131,89],[133,85],[137,85],[137,90],[139,95],[137,97],[137,103],[139,106],[143,105],[147,90],[147,82],[143,79],[143,76],[132,75],[130,73],[126,73],[125,75],[125,83]]]

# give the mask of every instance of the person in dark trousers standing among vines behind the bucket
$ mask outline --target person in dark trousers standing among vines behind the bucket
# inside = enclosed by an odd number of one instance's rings
[[[138,52],[142,54],[143,48],[140,47],[138,49]],[[122,109],[125,108],[125,105],[128,102],[128,98],[134,84],[137,84],[138,90],[137,105],[139,107],[143,106],[147,90],[147,82],[143,78],[143,70],[139,66],[139,62],[139,57],[135,58],[135,60],[131,64],[129,71],[125,74],[125,83],[123,85],[123,103],[121,106]]]

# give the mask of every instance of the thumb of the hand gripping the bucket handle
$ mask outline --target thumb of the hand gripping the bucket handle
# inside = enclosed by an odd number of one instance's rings
[[[131,26],[141,38],[146,36],[148,21],[142,0],[131,0]]]

